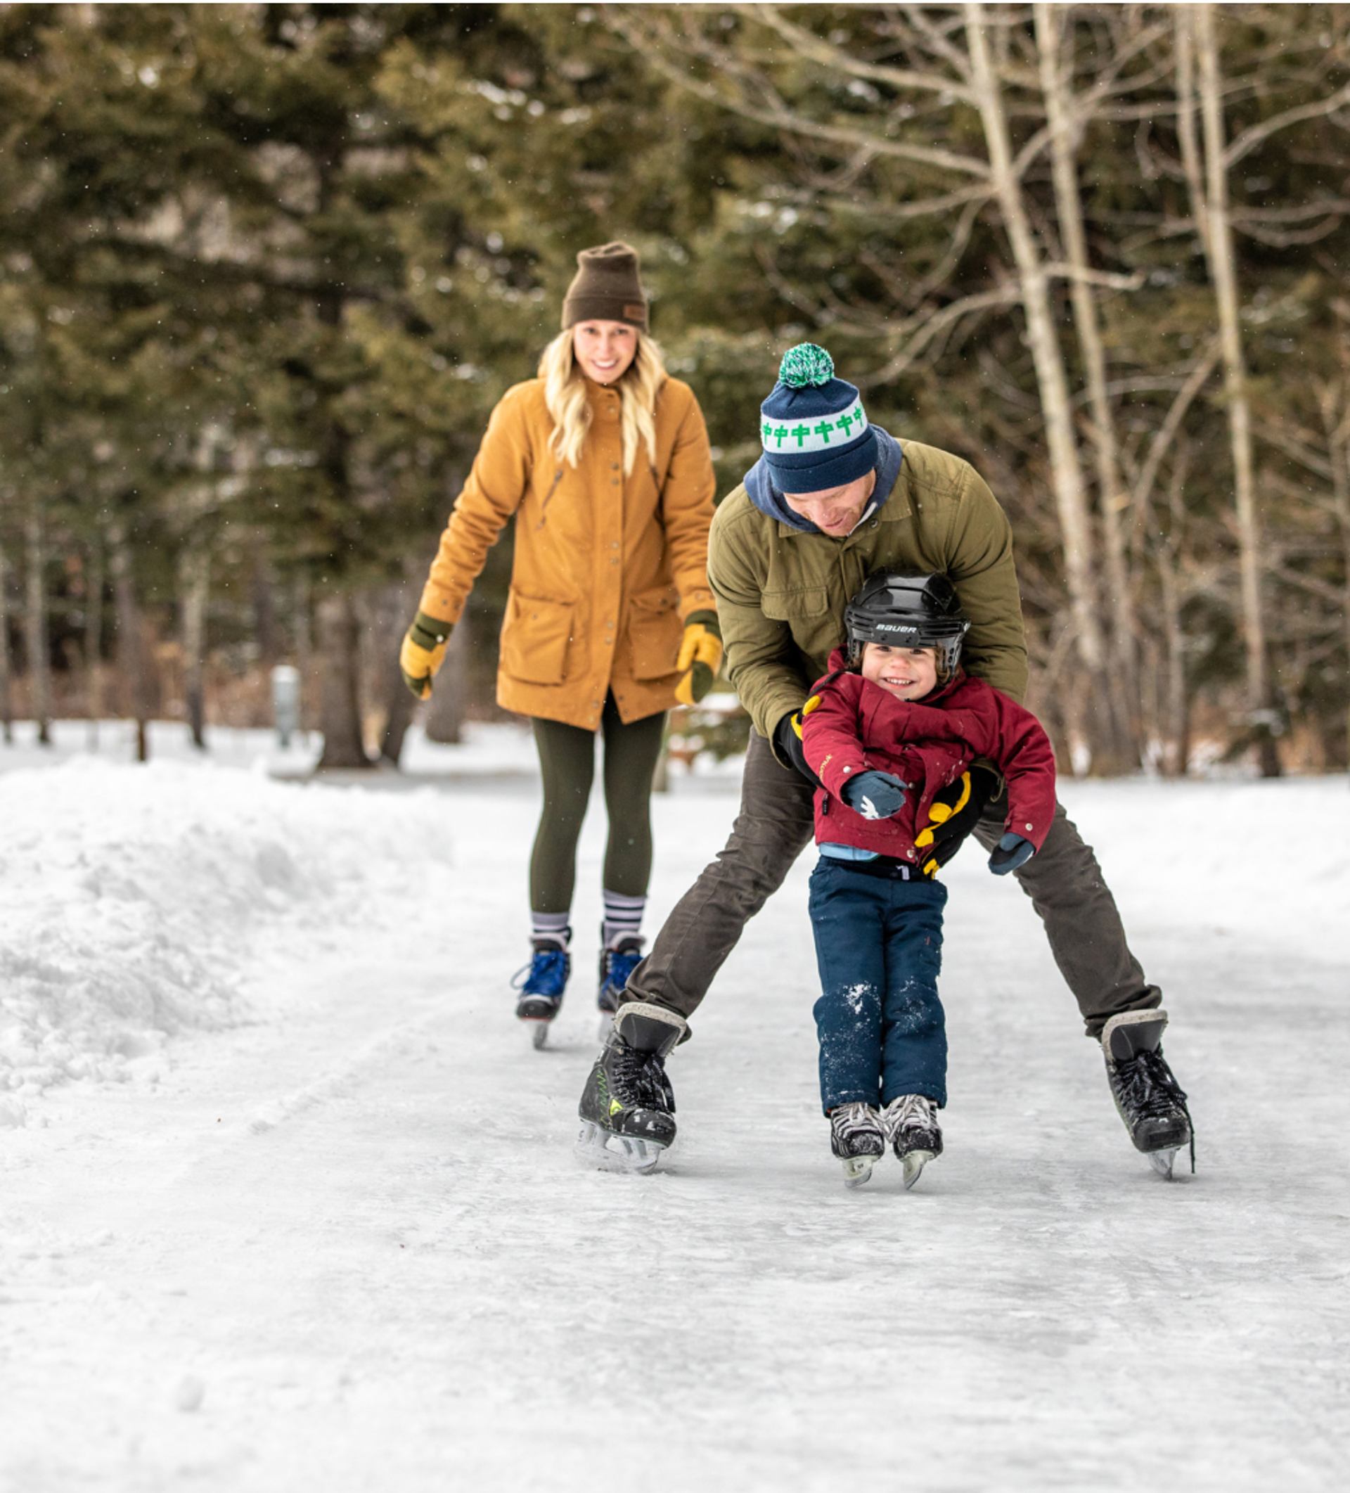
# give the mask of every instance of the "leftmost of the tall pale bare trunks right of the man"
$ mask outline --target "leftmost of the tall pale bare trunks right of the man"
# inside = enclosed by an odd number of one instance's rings
[[[1101,623],[1098,621],[1092,526],[1074,437],[1069,381],[1050,305],[1048,275],[1036,246],[1012,163],[1004,96],[989,52],[983,9],[978,4],[966,4],[965,15],[972,82],[980,100],[980,118],[989,149],[990,184],[999,202],[1008,243],[1012,248],[1021,308],[1026,317],[1027,343],[1036,369],[1041,409],[1045,417],[1050,472],[1065,552],[1065,584],[1069,591],[1078,657],[1087,676],[1090,697],[1104,706],[1104,711],[1084,712],[1083,726],[1089,732],[1090,744],[1104,745],[1108,752],[1113,752],[1111,684]],[[1102,714],[1107,715],[1105,721],[1101,718]]]

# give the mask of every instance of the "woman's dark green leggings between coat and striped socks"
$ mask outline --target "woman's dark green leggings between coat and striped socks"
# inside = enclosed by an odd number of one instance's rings
[[[647,896],[651,876],[651,779],[662,752],[666,714],[627,726],[611,694],[600,715],[605,738],[605,890]],[[530,909],[569,912],[576,885],[576,841],[596,775],[596,733],[535,718],[544,773],[544,814],[530,854]]]

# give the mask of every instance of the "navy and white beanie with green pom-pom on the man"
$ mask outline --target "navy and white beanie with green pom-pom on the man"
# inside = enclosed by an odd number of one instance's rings
[[[835,378],[833,360],[814,342],[783,355],[774,393],[760,405],[760,443],[780,493],[821,493],[877,466],[862,396]]]

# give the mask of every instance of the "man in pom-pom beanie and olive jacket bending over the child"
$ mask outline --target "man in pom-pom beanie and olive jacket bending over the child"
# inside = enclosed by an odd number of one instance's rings
[[[760,414],[763,457],[717,509],[708,540],[727,676],[754,723],[741,812],[629,978],[581,1097],[582,1145],[633,1171],[651,1171],[675,1138],[665,1059],[688,1035],[688,1017],[745,923],[812,839],[815,784],[800,712],[842,640],[850,596],[874,570],[942,572],[971,621],[968,672],[1017,702],[1027,682],[1011,527],[969,463],[917,442],[902,448],[871,426],[857,388],[835,378],[829,354],[811,343],[787,352]],[[933,811],[920,875],[968,833],[986,850],[1002,835],[998,775],[975,767],[954,787]],[[1171,1175],[1192,1130],[1162,1056],[1162,993],[1144,979],[1096,857],[1063,808],[1015,875],[1087,1035],[1102,1044],[1130,1139]]]

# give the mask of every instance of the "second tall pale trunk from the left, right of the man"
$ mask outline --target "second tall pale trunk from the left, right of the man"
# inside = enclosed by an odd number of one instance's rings
[[[1080,131],[1072,116],[1072,91],[1060,58],[1062,12],[1059,7],[1038,3],[1035,13],[1041,90],[1045,96],[1045,116],[1051,131],[1056,215],[1063,234],[1066,263],[1075,272],[1069,279],[1069,300],[1074,308],[1074,328],[1083,354],[1093,421],[1107,600],[1111,617],[1111,735],[1117,745],[1119,758],[1113,766],[1116,770],[1129,770],[1139,764],[1135,617],[1122,526],[1122,515],[1129,509],[1129,496],[1120,478],[1120,442],[1116,434],[1111,400],[1107,394],[1107,352],[1102,345],[1095,293],[1089,282],[1087,234],[1083,228],[1083,203],[1078,193],[1077,137]]]

